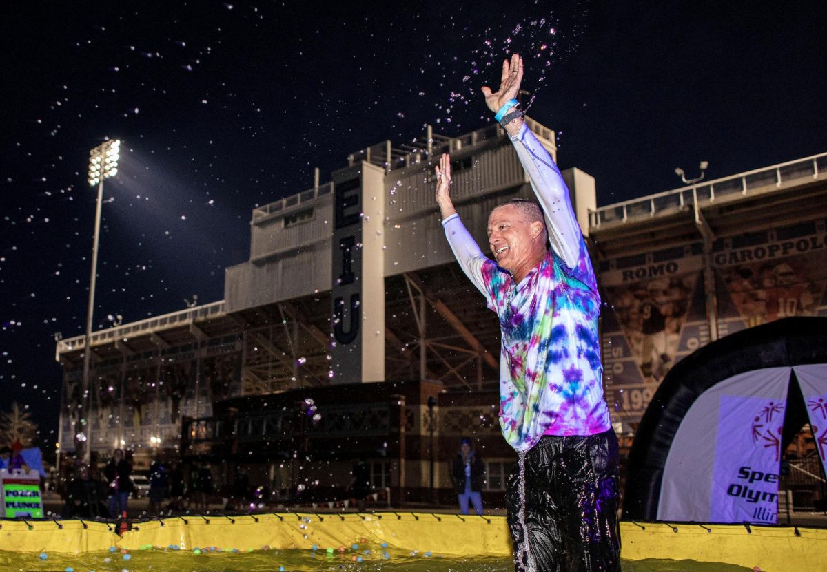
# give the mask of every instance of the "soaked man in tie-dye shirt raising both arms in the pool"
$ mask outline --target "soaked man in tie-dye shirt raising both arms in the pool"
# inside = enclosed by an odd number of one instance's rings
[[[482,92],[539,204],[495,207],[490,260],[454,209],[448,155],[436,168],[437,203],[462,270],[500,318],[500,427],[519,454],[507,501],[515,568],[620,570],[618,444],[601,385],[600,295],[566,184],[517,110],[522,79],[514,54],[503,62],[500,89]]]

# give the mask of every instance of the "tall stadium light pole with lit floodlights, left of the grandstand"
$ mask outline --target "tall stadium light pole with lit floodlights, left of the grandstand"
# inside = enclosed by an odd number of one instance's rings
[[[86,312],[86,337],[84,339],[84,380],[83,393],[81,393],[80,427],[75,427],[75,441],[84,443],[84,460],[88,463],[91,459],[92,444],[92,420],[89,414],[92,412],[92,395],[89,391],[89,358],[92,355],[92,317],[95,307],[95,283],[98,274],[98,235],[101,227],[101,204],[103,203],[103,179],[108,179],[117,174],[117,160],[120,157],[121,141],[104,141],[93,150],[89,151],[89,175],[90,187],[98,185],[98,202],[95,206],[95,232],[92,243],[92,277],[89,279],[89,307]],[[85,431],[85,433],[84,433]]]

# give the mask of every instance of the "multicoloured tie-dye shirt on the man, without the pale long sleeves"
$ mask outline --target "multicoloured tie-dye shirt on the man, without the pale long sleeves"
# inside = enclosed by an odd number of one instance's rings
[[[590,270],[590,262],[581,262]],[[609,429],[597,331],[600,297],[587,285],[594,279],[577,279],[579,272],[551,251],[520,284],[493,261],[481,270],[488,305],[502,328],[500,424],[506,441],[528,450],[543,435]]]

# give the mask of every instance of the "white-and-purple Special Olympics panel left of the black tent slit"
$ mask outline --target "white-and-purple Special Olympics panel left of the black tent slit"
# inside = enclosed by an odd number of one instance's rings
[[[777,522],[790,367],[734,375],[701,394],[672,441],[657,518]]]

